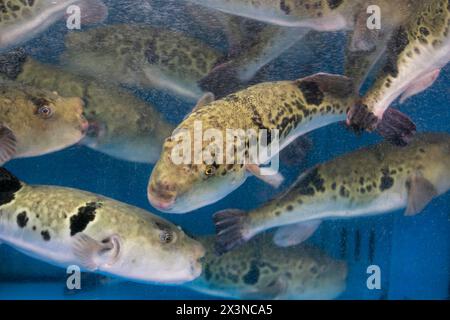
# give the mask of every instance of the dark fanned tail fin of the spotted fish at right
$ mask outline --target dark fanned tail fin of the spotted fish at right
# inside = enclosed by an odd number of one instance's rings
[[[247,242],[243,229],[247,213],[242,210],[228,209],[214,214],[216,225],[216,253],[222,255]]]

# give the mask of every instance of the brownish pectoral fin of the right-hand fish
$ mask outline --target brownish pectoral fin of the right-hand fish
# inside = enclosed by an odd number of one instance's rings
[[[405,211],[406,216],[413,216],[420,213],[434,197],[438,196],[434,185],[421,175],[414,175],[409,178],[407,181],[407,189],[408,205]]]

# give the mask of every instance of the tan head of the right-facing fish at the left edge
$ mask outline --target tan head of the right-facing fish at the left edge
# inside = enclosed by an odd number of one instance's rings
[[[63,98],[45,91],[26,92],[26,108],[17,128],[13,130],[23,150],[23,156],[35,156],[58,151],[78,143],[86,134],[89,124],[83,116],[80,98]]]

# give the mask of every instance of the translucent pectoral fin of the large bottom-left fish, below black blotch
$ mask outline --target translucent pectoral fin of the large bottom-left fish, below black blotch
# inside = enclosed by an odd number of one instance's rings
[[[118,260],[120,242],[117,235],[97,241],[80,232],[73,237],[72,250],[83,268],[95,271],[101,266],[111,266]]]

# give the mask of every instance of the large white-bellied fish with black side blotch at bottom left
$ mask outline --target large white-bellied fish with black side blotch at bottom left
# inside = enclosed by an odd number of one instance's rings
[[[0,168],[0,241],[66,268],[137,282],[182,283],[203,246],[145,210],[89,192],[30,186]]]

